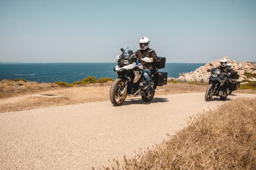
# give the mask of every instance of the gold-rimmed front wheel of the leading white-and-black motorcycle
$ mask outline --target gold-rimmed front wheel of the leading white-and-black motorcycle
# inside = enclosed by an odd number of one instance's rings
[[[114,106],[120,106],[126,99],[127,88],[123,91],[124,80],[116,79],[110,88],[110,101]]]

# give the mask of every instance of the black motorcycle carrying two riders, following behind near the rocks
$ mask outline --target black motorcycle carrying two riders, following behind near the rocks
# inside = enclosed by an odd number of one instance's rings
[[[234,81],[239,78],[237,71],[233,71],[230,77],[227,77],[218,68],[211,68],[208,71],[211,72],[211,75],[209,86],[205,92],[205,101],[210,101],[214,95],[220,96],[221,100],[226,100],[227,96],[240,86],[240,82]]]

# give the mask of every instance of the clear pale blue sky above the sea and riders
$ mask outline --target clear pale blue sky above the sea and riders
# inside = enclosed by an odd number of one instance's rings
[[[3,62],[114,62],[142,36],[167,62],[256,61],[256,1],[0,0]]]

